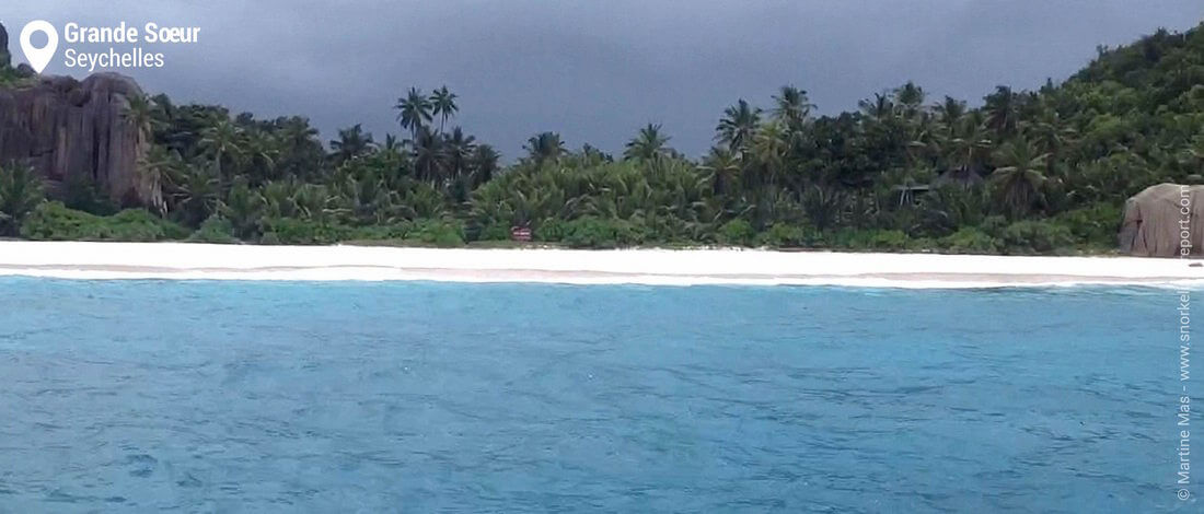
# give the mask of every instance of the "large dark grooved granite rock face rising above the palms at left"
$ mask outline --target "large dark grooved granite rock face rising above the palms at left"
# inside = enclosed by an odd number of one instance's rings
[[[87,177],[111,199],[134,202],[146,144],[124,114],[142,95],[138,84],[118,73],[35,81],[0,89],[0,163],[25,163],[52,185]]]

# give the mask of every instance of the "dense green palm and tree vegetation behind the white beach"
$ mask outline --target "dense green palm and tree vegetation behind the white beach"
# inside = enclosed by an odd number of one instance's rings
[[[1001,85],[980,107],[908,82],[816,117],[804,90],[783,87],[766,108],[722,112],[698,159],[649,124],[622,155],[569,150],[549,131],[503,167],[452,126],[456,100],[412,88],[394,106],[403,137],[355,125],[323,144],[300,117],[136,99],[128,116],[150,148],[138,203],[154,215],[116,213],[138,206],[89,184],[43,203],[31,173],[10,166],[0,236],[459,246],[525,226],[586,248],[1106,252],[1128,196],[1202,181],[1204,30],[1099,48],[1064,83]]]

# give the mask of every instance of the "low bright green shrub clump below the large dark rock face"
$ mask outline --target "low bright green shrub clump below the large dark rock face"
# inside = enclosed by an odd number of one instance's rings
[[[100,217],[46,202],[25,218],[20,235],[46,241],[163,241],[183,238],[188,231],[143,209]]]

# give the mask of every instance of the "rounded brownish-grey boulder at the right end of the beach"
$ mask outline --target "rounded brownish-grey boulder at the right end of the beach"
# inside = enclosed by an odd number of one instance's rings
[[[1128,199],[1120,247],[1137,256],[1204,253],[1204,185],[1151,185]]]

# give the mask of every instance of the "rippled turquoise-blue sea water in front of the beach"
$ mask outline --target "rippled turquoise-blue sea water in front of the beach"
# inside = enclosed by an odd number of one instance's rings
[[[1176,307],[0,278],[0,512],[1198,512]]]

